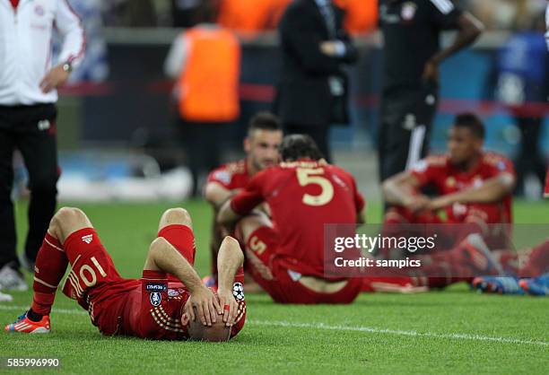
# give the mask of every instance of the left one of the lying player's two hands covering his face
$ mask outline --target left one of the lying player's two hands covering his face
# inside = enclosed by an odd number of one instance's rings
[[[196,314],[193,308],[196,308]],[[216,322],[217,316],[222,315],[222,307],[217,296],[205,286],[191,293],[184,310],[185,314],[181,319],[184,325],[187,325],[188,319],[195,321],[198,318],[203,325],[211,327],[212,323]]]

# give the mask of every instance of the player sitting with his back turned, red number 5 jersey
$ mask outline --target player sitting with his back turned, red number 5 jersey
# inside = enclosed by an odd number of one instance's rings
[[[362,279],[324,276],[324,224],[362,222],[364,200],[353,176],[322,159],[309,135],[288,135],[283,162],[257,173],[222,205],[218,220],[238,222],[246,266],[280,303],[350,303]],[[267,202],[272,220],[257,205]]]

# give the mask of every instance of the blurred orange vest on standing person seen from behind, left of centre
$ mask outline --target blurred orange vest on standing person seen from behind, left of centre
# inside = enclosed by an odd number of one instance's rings
[[[231,31],[196,27],[184,33],[187,61],[179,75],[179,114],[196,122],[240,115],[240,44]]]

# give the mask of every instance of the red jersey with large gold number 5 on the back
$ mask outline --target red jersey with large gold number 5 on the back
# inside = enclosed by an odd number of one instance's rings
[[[244,215],[264,201],[279,234],[275,257],[292,271],[318,276],[324,274],[324,224],[354,223],[364,206],[351,174],[324,161],[305,160],[257,173],[231,199],[231,208]]]

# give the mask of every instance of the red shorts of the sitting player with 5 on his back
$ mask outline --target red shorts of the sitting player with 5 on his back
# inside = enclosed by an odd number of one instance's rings
[[[246,243],[246,267],[254,280],[279,303],[351,303],[361,292],[362,279],[348,279],[339,292],[321,293],[300,283],[299,270],[291,270],[276,257],[278,235],[273,228],[260,227]]]

